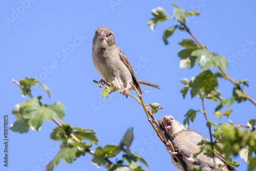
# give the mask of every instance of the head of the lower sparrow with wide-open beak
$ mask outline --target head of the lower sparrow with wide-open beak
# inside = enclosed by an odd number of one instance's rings
[[[158,123],[165,130],[165,132],[169,135],[175,135],[182,130],[185,130],[185,127],[174,119],[171,115],[165,115],[161,119],[158,120]]]

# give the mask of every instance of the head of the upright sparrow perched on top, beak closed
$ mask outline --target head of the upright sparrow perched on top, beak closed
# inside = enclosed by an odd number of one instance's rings
[[[97,48],[106,48],[115,45],[114,33],[110,28],[98,27],[93,37],[93,45]]]

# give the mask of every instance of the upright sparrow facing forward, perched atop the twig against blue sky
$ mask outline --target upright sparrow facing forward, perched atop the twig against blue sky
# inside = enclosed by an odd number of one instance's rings
[[[128,97],[129,90],[133,90],[130,82],[134,84],[138,92],[142,94],[140,84],[159,89],[156,84],[137,80],[133,68],[116,45],[114,33],[106,27],[99,27],[93,37],[92,58],[95,69],[101,77],[99,88],[102,88],[104,82],[116,81],[118,88]]]

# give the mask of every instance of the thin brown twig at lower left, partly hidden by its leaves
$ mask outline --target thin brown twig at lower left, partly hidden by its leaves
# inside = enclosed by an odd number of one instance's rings
[[[18,87],[21,87],[20,83],[18,81],[16,81],[15,79],[12,79],[12,81],[14,83],[17,84]],[[28,95],[30,98],[33,98],[33,96],[31,95],[30,91],[28,90]],[[54,117],[52,118],[52,120],[61,128],[61,130],[65,131],[65,129],[63,128],[62,124],[59,123],[59,121],[57,119],[55,119]],[[72,138],[74,138],[77,142],[81,142],[81,140],[79,140],[73,133],[70,133],[70,132],[67,132],[65,131],[66,133],[68,133]],[[94,155],[94,151],[92,151],[91,149],[86,149],[86,151],[84,152],[87,152],[87,153],[90,153],[91,155]],[[114,163],[111,162],[108,158],[105,158],[105,160],[108,162],[109,165],[113,165]],[[109,168],[108,165],[104,166],[106,168]]]

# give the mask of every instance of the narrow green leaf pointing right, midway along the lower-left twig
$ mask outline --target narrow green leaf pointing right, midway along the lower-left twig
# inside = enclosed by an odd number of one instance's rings
[[[76,127],[72,127],[72,129],[76,130]],[[86,129],[81,131],[80,128],[78,130],[79,131],[77,132],[73,132],[73,134],[78,139],[88,140],[88,141],[91,141],[93,144],[97,145],[98,138],[95,136],[95,132],[93,130]]]

